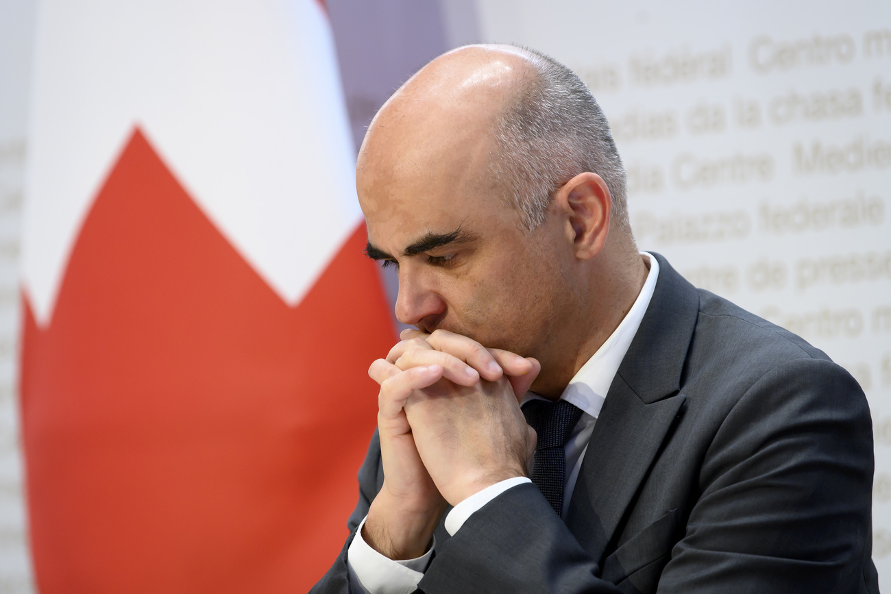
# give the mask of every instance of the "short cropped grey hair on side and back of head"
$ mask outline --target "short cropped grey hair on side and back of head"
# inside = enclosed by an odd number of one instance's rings
[[[531,68],[495,117],[495,183],[528,232],[544,222],[552,194],[578,174],[600,175],[612,197],[612,219],[631,230],[625,204],[625,167],[609,123],[576,73],[551,56],[519,51]]]

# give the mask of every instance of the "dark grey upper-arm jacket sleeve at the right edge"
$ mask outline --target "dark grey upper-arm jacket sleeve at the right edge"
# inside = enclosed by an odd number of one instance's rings
[[[854,378],[826,360],[779,365],[715,433],[658,592],[870,591],[872,472]]]

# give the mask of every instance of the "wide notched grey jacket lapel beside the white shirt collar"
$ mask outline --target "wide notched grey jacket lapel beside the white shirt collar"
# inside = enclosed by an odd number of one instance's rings
[[[601,561],[685,400],[683,364],[699,313],[699,294],[659,263],[647,313],[609,387],[569,501],[569,530]]]

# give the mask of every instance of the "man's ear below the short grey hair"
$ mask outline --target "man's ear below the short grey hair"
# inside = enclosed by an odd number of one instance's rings
[[[579,174],[554,195],[568,216],[567,233],[576,257],[587,260],[601,253],[609,233],[611,199],[600,175]]]

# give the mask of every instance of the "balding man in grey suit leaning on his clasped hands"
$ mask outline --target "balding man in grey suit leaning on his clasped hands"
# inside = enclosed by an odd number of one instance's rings
[[[571,71],[446,53],[356,171],[418,330],[372,364],[353,533],[315,591],[878,592],[862,390],[638,251]]]

